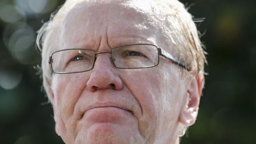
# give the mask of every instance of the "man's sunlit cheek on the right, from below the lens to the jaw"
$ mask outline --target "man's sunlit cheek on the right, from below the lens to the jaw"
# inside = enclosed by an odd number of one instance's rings
[[[143,116],[138,118],[141,133],[148,135],[166,121],[176,118],[179,75],[173,68],[158,67],[130,70],[124,74],[124,85],[141,105]],[[174,74],[173,74],[174,73]],[[157,135],[157,134],[156,134]]]

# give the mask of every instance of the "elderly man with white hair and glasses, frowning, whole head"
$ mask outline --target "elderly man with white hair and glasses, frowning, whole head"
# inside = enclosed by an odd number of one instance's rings
[[[67,0],[37,44],[66,144],[179,144],[195,123],[205,57],[177,0]]]

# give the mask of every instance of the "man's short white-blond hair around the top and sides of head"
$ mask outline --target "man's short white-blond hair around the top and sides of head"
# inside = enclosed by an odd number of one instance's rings
[[[59,39],[58,31],[59,27],[65,16],[69,13],[69,11],[79,4],[80,2],[87,2],[93,4],[95,2],[113,2],[113,1],[124,1],[124,0],[66,0],[65,4],[61,6],[58,11],[52,13],[50,20],[43,24],[41,29],[38,31],[37,35],[37,47],[41,51],[42,55],[42,78],[43,78],[43,87],[46,91],[48,99],[52,102],[52,70],[48,64],[48,57],[58,48]],[[138,2],[138,0],[125,0],[129,2]],[[179,2],[178,0],[139,0],[143,1],[143,3],[154,2],[158,4],[163,9],[161,9],[160,13],[165,13],[168,17],[172,17],[176,22],[171,22],[170,19],[166,19],[168,24],[170,24],[170,28],[179,29],[182,32],[181,35],[176,34],[176,37],[180,37],[182,43],[186,43],[187,49],[185,52],[189,56],[189,60],[186,60],[187,67],[190,70],[196,70],[198,72],[198,76],[201,78],[201,88],[204,87],[204,63],[206,63],[205,52],[202,48],[202,43],[198,37],[198,31],[193,22],[193,17],[191,14],[187,12],[184,4]],[[158,15],[158,14],[156,14]],[[169,21],[169,22],[168,22]],[[166,25],[166,24],[165,24]],[[167,26],[168,27],[168,26]],[[172,30],[172,29],[171,29]],[[174,33],[175,34],[175,33]],[[179,50],[179,52],[184,52],[184,50]],[[183,56],[184,57],[184,56]],[[182,53],[179,55],[179,58],[182,58]]]

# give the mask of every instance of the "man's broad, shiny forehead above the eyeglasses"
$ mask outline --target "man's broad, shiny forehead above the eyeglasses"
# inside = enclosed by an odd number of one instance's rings
[[[147,11],[151,11],[150,5],[135,7],[130,1],[79,3],[61,24],[62,43],[65,47],[92,47],[107,36],[111,48],[134,43],[156,44],[160,36],[159,20]]]

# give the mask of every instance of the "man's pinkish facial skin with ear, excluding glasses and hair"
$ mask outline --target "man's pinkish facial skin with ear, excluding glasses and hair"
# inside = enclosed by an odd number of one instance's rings
[[[58,50],[139,43],[167,48],[158,22],[117,2],[81,4],[64,18]],[[67,144],[177,144],[181,124],[191,126],[197,117],[197,79],[183,78],[163,57],[152,68],[118,69],[109,56],[97,55],[88,72],[53,74],[56,133]]]

